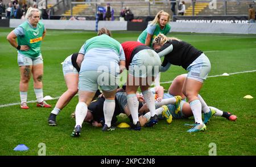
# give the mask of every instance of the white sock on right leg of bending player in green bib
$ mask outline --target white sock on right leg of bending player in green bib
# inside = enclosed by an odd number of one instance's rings
[[[104,101],[103,110],[104,110],[105,124],[108,125],[108,127],[110,127],[112,117],[115,111],[115,100],[106,99]]]

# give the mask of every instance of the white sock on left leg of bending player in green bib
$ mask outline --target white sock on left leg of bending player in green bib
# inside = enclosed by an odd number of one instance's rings
[[[82,122],[84,122],[84,118],[86,117],[87,114],[87,105],[85,102],[79,102],[76,105],[76,126],[80,125],[82,127]],[[76,127],[75,126],[75,127]]]

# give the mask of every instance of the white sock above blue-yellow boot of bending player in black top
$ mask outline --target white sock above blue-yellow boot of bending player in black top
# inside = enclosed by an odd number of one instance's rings
[[[199,100],[193,100],[193,101],[189,102],[189,105],[193,112],[195,122],[203,124],[202,114],[201,114],[201,110],[202,110],[201,102]]]

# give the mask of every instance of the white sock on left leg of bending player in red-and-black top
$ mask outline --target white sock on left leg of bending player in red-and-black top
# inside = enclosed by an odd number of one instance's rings
[[[139,101],[137,96],[135,94],[127,95],[127,104],[131,112],[131,117],[133,117],[133,124],[136,125],[136,123],[139,121]]]

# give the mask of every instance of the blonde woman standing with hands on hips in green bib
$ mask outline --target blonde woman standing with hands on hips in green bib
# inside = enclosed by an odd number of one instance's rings
[[[40,22],[40,12],[37,8],[28,8],[27,21],[20,24],[9,33],[7,40],[18,50],[18,65],[20,69],[20,108],[28,109],[27,91],[31,73],[34,80],[34,91],[38,104],[36,106],[51,108],[43,100],[43,58],[41,42],[46,35],[44,24]],[[16,42],[16,38],[18,43]]]

